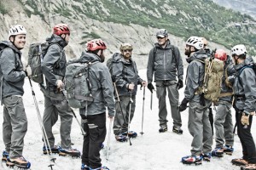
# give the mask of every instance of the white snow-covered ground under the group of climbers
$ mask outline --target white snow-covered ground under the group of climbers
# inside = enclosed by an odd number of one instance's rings
[[[185,72],[185,71],[184,71]],[[139,71],[140,77],[144,80],[147,79],[146,71]],[[41,116],[44,113],[44,95],[38,88],[38,84],[32,83],[36,99],[38,101],[38,106]],[[154,86],[155,87],[155,86]],[[25,105],[26,116],[28,120],[28,129],[25,136],[25,146],[23,150],[23,156],[32,163],[32,170],[46,170],[50,169],[49,166],[49,156],[43,154],[43,142],[41,128],[38,122],[38,113],[34,105],[34,100],[32,97],[32,90],[28,79],[26,78],[25,94],[23,96],[23,101]],[[183,99],[183,90],[179,90],[180,98],[179,101]],[[159,117],[158,117],[158,99],[156,94],[153,95],[153,109],[150,110],[150,92],[146,88],[145,94],[145,108],[144,108],[144,122],[143,122],[143,135],[142,132],[142,116],[143,116],[143,90],[138,90],[137,92],[137,103],[135,116],[131,122],[131,130],[136,131],[138,136],[136,139],[131,139],[132,145],[129,142],[119,143],[114,139],[113,130],[111,129],[110,136],[110,150],[108,161],[106,160],[106,148],[108,146],[108,132],[104,142],[105,148],[101,151],[102,165],[107,166],[111,170],[157,170],[157,169],[186,169],[186,170],[231,170],[240,169],[240,167],[231,164],[231,159],[241,157],[241,143],[237,135],[235,135],[235,151],[232,156],[224,155],[223,158],[212,158],[211,162],[203,161],[202,165],[183,165],[181,163],[181,158],[183,156],[190,155],[192,136],[188,131],[188,109],[183,111],[182,121],[183,121],[183,134],[178,135],[172,133],[172,116],[171,109],[168,98],[166,96],[166,105],[168,109],[168,128],[169,131],[166,133],[159,133]],[[80,121],[79,111],[74,110]],[[235,111],[232,109],[233,114],[233,124],[235,124]],[[0,108],[0,122],[3,122],[3,106]],[[215,111],[213,111],[215,115]],[[107,131],[109,131],[109,119],[107,118]],[[2,127],[3,129],[3,127]],[[58,121],[53,127],[53,132],[55,133],[55,144],[60,144],[60,121]],[[0,150],[4,150],[3,144],[3,130],[0,131]],[[253,137],[255,138],[255,124],[253,122],[252,127]],[[79,129],[79,124],[73,118],[72,132],[71,132],[72,142],[74,143],[73,148],[77,148],[82,151],[83,148],[83,136]],[[213,139],[212,150],[215,147],[215,141]],[[80,158],[63,157],[58,155],[53,155],[56,157],[55,170],[79,170],[81,166]],[[0,169],[9,169],[2,162]]]

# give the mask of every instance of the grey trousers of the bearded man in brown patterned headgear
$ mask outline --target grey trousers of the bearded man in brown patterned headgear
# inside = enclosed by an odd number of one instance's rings
[[[130,112],[130,96],[120,96],[120,104],[119,101],[116,99],[115,101],[115,109],[116,114],[113,119],[113,133],[118,135],[119,133],[126,132],[128,130],[128,120],[129,120],[129,112]],[[130,116],[130,123],[134,116],[135,106],[136,106],[136,96],[131,96],[133,103],[131,103],[131,116]],[[123,111],[123,114],[122,114]],[[124,121],[125,117],[125,121]]]

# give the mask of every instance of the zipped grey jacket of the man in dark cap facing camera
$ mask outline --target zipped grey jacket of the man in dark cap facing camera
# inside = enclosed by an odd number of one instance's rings
[[[153,74],[154,82],[177,80],[177,78],[183,80],[183,60],[178,48],[173,46],[169,40],[166,48],[161,48],[158,43],[155,43],[154,46],[148,56],[148,83],[153,82]]]

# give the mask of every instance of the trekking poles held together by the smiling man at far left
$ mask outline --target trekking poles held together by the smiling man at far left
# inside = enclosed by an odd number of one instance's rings
[[[43,122],[43,120],[42,120],[42,117],[41,117],[41,114],[40,114],[40,111],[39,111],[39,108],[38,108],[38,101],[37,101],[37,99],[36,99],[36,94],[35,94],[34,89],[33,89],[33,87],[32,87],[31,78],[28,77],[28,80],[29,80],[30,87],[31,87],[31,90],[32,90],[32,96],[33,96],[33,99],[34,99],[34,103],[35,103],[35,105],[36,105],[36,110],[37,110],[37,113],[38,113],[38,121],[39,121],[41,130],[42,130],[43,140],[44,140],[44,144],[45,144],[45,149],[46,149],[47,155],[49,156],[49,161],[55,162],[56,158],[50,156],[50,154],[52,154],[52,151],[51,151],[51,149],[50,149],[49,140],[48,140],[48,137],[47,137],[45,128],[44,128],[44,122]],[[47,146],[48,146],[48,148],[49,148],[49,151],[48,151]],[[53,167],[53,166],[54,166],[53,164],[49,164],[48,167],[50,167],[50,169],[52,170],[52,167]]]

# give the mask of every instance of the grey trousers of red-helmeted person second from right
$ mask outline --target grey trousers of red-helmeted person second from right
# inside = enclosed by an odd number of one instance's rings
[[[218,104],[214,118],[216,148],[222,148],[224,144],[234,144],[231,106],[227,102]]]

